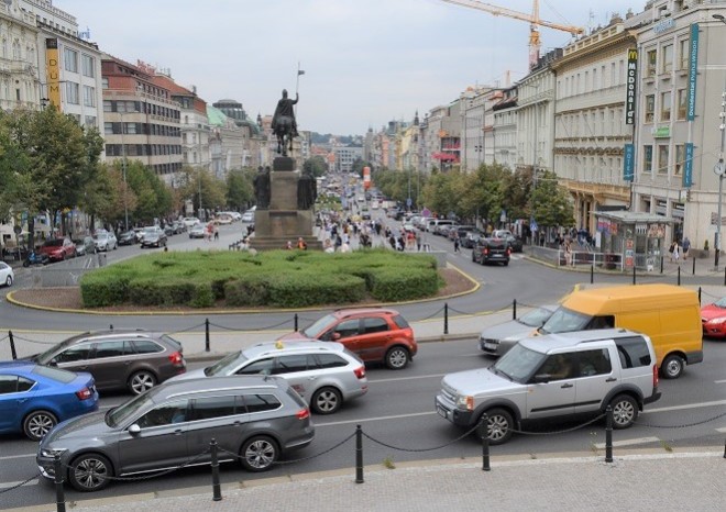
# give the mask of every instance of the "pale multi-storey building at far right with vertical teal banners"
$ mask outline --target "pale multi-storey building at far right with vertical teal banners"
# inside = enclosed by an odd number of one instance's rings
[[[723,200],[723,0],[657,0],[627,20],[638,37],[634,211],[672,219],[667,242],[689,236],[697,248],[714,247]]]

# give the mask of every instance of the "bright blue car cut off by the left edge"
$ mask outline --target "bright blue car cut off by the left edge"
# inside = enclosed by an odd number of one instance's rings
[[[97,409],[90,374],[29,361],[0,363],[0,434],[22,432],[41,441],[59,422]]]

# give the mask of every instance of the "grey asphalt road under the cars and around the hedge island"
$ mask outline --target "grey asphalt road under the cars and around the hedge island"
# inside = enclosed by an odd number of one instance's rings
[[[233,224],[223,226],[220,248],[241,237],[242,226]],[[429,235],[428,243],[432,248],[452,251],[452,246],[443,238]],[[209,247],[209,242],[189,241],[186,235],[169,238],[169,248]],[[145,249],[146,251],[146,249]],[[154,249],[152,249],[154,251]],[[111,252],[109,259],[121,259],[138,254],[134,247],[121,247]],[[472,296],[452,299],[449,307],[453,312],[473,313],[509,307],[513,300],[522,304],[549,303],[572,290],[579,282],[588,281],[588,275],[560,271],[528,261],[515,255],[508,267],[482,267],[471,263],[470,252],[461,254],[449,253],[449,261],[483,283],[482,289]],[[22,287],[32,280],[32,270],[19,272],[16,286]],[[627,276],[597,276],[600,282],[629,282]],[[708,278],[705,278],[708,279]],[[6,291],[3,289],[3,291]],[[398,309],[409,320],[420,320],[440,311],[441,301],[405,304]],[[212,315],[212,322],[221,322],[237,329],[263,329],[289,320],[289,312],[264,314]],[[300,318],[317,318],[319,313],[302,312]],[[113,323],[118,327],[147,327],[169,332],[197,325],[202,315],[177,316],[97,316],[40,312],[25,310],[0,302],[0,332],[7,329],[33,330],[48,332],[78,332],[108,327]],[[723,446],[726,421],[721,418],[726,411],[726,380],[723,368],[726,366],[726,343],[706,341],[704,344],[705,360],[703,364],[689,368],[684,376],[675,381],[661,381],[663,398],[651,404],[641,415],[639,424],[627,431],[615,433],[616,453],[629,448],[657,448],[662,450],[683,449],[690,446]],[[365,464],[384,464],[404,460],[440,459],[459,456],[476,456],[481,454],[480,442],[472,436],[458,441],[462,432],[439,418],[433,409],[433,397],[439,390],[441,377],[451,371],[464,370],[491,364],[483,357],[475,340],[462,340],[447,343],[421,344],[414,363],[403,371],[391,371],[385,368],[370,368],[370,392],[360,400],[350,402],[339,413],[332,416],[314,416],[317,425],[315,442],[301,452],[292,455],[293,458],[304,458],[288,465],[282,465],[272,472],[252,475],[235,465],[223,467],[222,482],[253,480],[271,476],[284,476],[292,472],[310,472],[323,469],[352,468],[354,466],[353,439],[330,452],[328,449],[351,436],[356,425],[362,425],[364,438]],[[113,407],[129,397],[111,396],[101,401],[102,408]],[[558,433],[571,428],[574,424],[539,425],[534,435],[517,435],[510,443],[494,447],[494,457],[504,455],[550,453],[578,453],[592,455],[603,453],[601,443],[605,432],[602,423],[566,433]],[[0,437],[0,492],[32,478],[36,475],[34,455],[36,444],[19,436]],[[389,445],[389,446],[386,446]],[[435,449],[436,448],[436,449]],[[326,453],[327,452],[327,453]],[[351,469],[352,471],[352,469]],[[116,483],[108,489],[95,493],[94,498],[110,496],[138,494],[142,492],[173,492],[185,489],[208,486],[210,474],[208,468],[189,468],[172,476],[141,480],[136,482]],[[67,489],[67,499],[88,499]],[[47,481],[31,481],[19,489],[0,494],[0,509],[53,503],[54,489]]]

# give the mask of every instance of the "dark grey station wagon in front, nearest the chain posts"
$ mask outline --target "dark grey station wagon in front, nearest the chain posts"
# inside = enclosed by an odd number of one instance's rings
[[[64,481],[97,491],[114,477],[210,464],[212,438],[220,461],[264,471],[314,435],[307,404],[285,379],[193,379],[165,382],[107,412],[61,423],[43,438],[36,461],[44,477],[54,478],[59,455]]]

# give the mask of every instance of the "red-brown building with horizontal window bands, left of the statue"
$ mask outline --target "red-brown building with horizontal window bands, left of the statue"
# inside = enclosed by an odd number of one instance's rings
[[[182,165],[182,111],[152,66],[103,54],[106,157],[135,159],[168,185]]]

